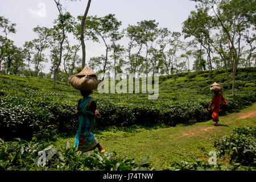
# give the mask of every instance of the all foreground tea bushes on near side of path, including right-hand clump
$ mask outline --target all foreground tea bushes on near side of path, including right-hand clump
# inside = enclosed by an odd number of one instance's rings
[[[218,157],[225,156],[230,159],[230,164],[209,164],[204,160],[196,162],[173,162],[168,168],[154,168],[148,159],[140,162],[134,159],[121,158],[117,153],[98,151],[82,153],[75,147],[70,147],[68,142],[64,146],[55,149],[52,143],[33,138],[30,142],[16,140],[5,142],[0,139],[0,171],[12,170],[58,170],[58,171],[88,171],[88,170],[108,170],[108,171],[142,171],[142,170],[217,170],[217,171],[237,171],[256,169],[256,129],[253,127],[240,127],[234,129],[230,136],[224,136],[215,141]],[[234,147],[236,146],[236,147]],[[40,158],[42,152],[46,153],[46,160]],[[235,162],[235,163],[233,163]],[[243,166],[241,166],[243,164]]]

